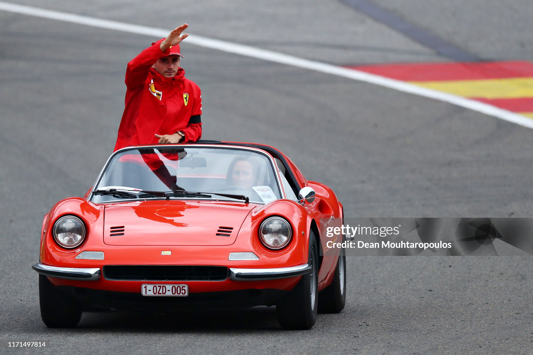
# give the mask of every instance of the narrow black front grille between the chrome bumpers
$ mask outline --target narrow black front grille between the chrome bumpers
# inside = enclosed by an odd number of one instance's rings
[[[223,281],[228,268],[223,266],[190,265],[107,265],[106,280],[128,281]]]

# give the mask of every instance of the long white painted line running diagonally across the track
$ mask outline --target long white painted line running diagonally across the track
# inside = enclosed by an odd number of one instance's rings
[[[45,9],[39,9],[38,7],[23,6],[11,3],[0,2],[0,10],[20,13],[30,16],[37,16],[45,19],[52,19],[58,21],[72,22],[77,24],[85,24],[86,26],[105,28],[110,30],[129,32],[133,34],[146,35],[152,37],[165,37],[169,29],[163,28],[154,28],[146,26],[137,26],[135,24],[102,20],[97,18],[92,18],[89,16],[76,15],[71,13],[51,11]],[[533,120],[516,114],[511,111],[499,109],[495,106],[488,105],[479,101],[470,100],[469,98],[451,95],[443,93],[437,90],[426,89],[416,85],[408,84],[400,80],[389,79],[381,77],[378,75],[373,75],[365,73],[358,70],[346,69],[338,67],[337,65],[310,61],[302,58],[298,58],[288,54],[282,54],[273,51],[266,51],[265,49],[255,48],[252,46],[241,45],[237,43],[226,42],[218,39],[211,39],[202,36],[190,35],[187,38],[187,43],[217,49],[219,51],[240,54],[247,57],[257,58],[261,60],[266,60],[270,62],[292,65],[293,67],[303,68],[314,70],[322,73],[327,73],[331,75],[336,75],[343,78],[349,78],[353,80],[359,80],[364,82],[369,82],[370,84],[375,84],[394,90],[398,90],[404,93],[414,94],[423,97],[433,98],[434,100],[439,100],[461,106],[466,109],[473,111],[481,112],[499,119],[516,123],[517,125],[533,128]]]

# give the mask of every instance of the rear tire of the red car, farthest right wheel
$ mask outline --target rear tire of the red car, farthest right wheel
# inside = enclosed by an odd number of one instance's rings
[[[338,255],[337,267],[332,283],[320,292],[318,311],[340,313],[346,304],[346,253],[344,248]]]

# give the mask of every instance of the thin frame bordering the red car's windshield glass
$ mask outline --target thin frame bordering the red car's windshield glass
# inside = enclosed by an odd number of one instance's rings
[[[276,164],[276,161],[274,161],[274,158],[272,157],[272,155],[270,155],[269,153],[259,149],[259,148],[253,148],[253,147],[242,147],[242,146],[238,146],[238,145],[224,145],[224,146],[220,146],[220,145],[217,145],[217,144],[198,144],[198,143],[195,143],[195,144],[157,144],[157,145],[137,145],[137,146],[128,146],[128,147],[124,147],[122,149],[119,149],[118,151],[114,152],[113,154],[111,154],[109,156],[109,158],[107,159],[106,161],[106,164],[104,164],[102,170],[100,171],[100,174],[98,175],[98,178],[96,178],[96,181],[95,183],[93,184],[93,186],[91,187],[91,194],[88,196],[87,198],[87,201],[91,201],[92,203],[95,203],[95,204],[104,204],[104,203],[119,203],[119,202],[131,202],[131,201],[144,201],[144,200],[160,200],[160,199],[164,199],[164,197],[137,197],[137,198],[131,198],[131,199],[120,199],[120,200],[114,200],[114,201],[100,201],[100,202],[94,202],[93,201],[93,197],[95,196],[95,188],[96,186],[98,186],[98,184],[100,184],[100,181],[104,175],[104,172],[107,170],[107,168],[109,167],[109,163],[111,162],[111,160],[115,157],[115,155],[119,154],[119,153],[123,153],[125,151],[129,151],[129,150],[139,150],[139,149],[149,149],[149,148],[187,148],[187,147],[194,147],[194,148],[220,148],[220,149],[225,149],[225,150],[243,150],[243,151],[248,151],[248,152],[255,152],[255,153],[259,153],[259,154],[262,154],[266,157],[266,159],[268,159],[268,161],[270,162],[271,164],[271,168],[274,172],[274,176],[276,178],[276,183],[278,184],[278,189],[279,189],[279,192],[280,192],[280,195],[281,195],[281,199],[287,199],[287,196],[285,194],[285,189],[284,189],[284,186],[282,185],[281,183],[281,179],[279,177],[279,169],[278,169],[278,166]],[[204,192],[204,191],[200,191],[200,192]],[[205,193],[209,193],[209,191],[205,191]],[[213,196],[218,196],[216,194],[212,194]],[[228,199],[228,200],[226,200]],[[241,201],[241,200],[234,200],[234,199],[230,199],[230,197],[212,197],[211,199],[208,199],[208,198],[205,198],[205,197],[174,197],[173,199],[171,200],[180,200],[180,201],[183,201],[183,200],[199,200],[199,201],[231,201],[231,202],[243,202],[244,201]],[[277,201],[277,200],[276,200]],[[272,201],[273,202],[273,201]],[[254,204],[266,204],[266,202],[249,202],[249,203],[254,203]]]

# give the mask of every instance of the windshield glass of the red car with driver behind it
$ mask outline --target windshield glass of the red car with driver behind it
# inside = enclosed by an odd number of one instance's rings
[[[136,148],[117,153],[96,185],[144,191],[187,191],[213,194],[213,199],[232,200],[224,195],[244,195],[250,202],[267,203],[281,198],[271,160],[256,151],[234,148],[180,147]],[[130,193],[131,195],[131,193]],[[172,199],[191,198],[174,194]],[[157,198],[158,196],[150,197]],[[206,199],[206,196],[192,196]],[[127,194],[93,194],[93,202],[132,198]]]

